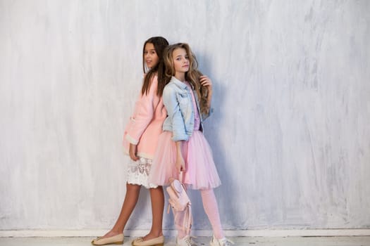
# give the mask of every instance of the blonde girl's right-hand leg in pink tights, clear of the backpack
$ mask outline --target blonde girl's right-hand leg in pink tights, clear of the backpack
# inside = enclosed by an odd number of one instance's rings
[[[218,214],[217,201],[214,196],[214,189],[200,190],[200,194],[202,195],[204,211],[206,212],[209,222],[211,222],[212,229],[214,230],[214,236],[217,239],[224,238],[220,214]]]

